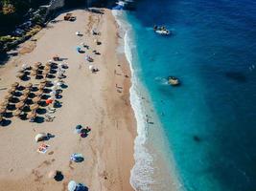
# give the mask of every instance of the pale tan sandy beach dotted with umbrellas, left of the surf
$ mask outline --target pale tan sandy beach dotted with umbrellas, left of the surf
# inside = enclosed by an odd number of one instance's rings
[[[85,10],[69,11],[76,21],[63,20],[63,12],[56,23],[49,23],[42,31],[17,50],[8,63],[0,68],[0,100],[15,81],[21,65],[46,63],[58,54],[67,63],[67,88],[59,99],[61,107],[52,114],[52,122],[29,122],[17,117],[11,124],[0,127],[0,191],[4,190],[67,190],[70,180],[84,183],[88,190],[133,190],[129,184],[133,166],[133,140],[136,125],[129,103],[130,72],[124,54],[117,53],[118,30],[111,11],[104,14]],[[92,35],[96,29],[101,35]],[[81,32],[82,36],[75,33]],[[95,39],[102,42],[95,43]],[[77,53],[81,43],[89,46],[85,53]],[[101,54],[92,53],[93,50]],[[29,53],[31,52],[31,53]],[[91,55],[99,72],[92,74],[85,55]],[[6,89],[7,88],[7,89]],[[47,107],[45,108],[47,109]],[[44,115],[40,115],[44,117]],[[76,125],[89,126],[86,138],[74,133]],[[35,135],[50,133],[54,138],[45,141],[49,150],[36,152],[39,142]],[[84,160],[71,162],[73,153],[81,153]],[[59,170],[63,180],[48,178],[51,170]]]

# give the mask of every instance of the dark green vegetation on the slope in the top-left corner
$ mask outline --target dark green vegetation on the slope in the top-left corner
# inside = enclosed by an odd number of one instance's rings
[[[37,10],[39,6],[48,4],[50,0],[0,0],[0,53],[15,47],[20,42],[30,38],[36,32],[39,32],[43,24],[43,15],[45,10],[40,10],[34,16],[28,12]],[[21,36],[12,36],[15,27],[32,19],[34,27],[26,29]]]

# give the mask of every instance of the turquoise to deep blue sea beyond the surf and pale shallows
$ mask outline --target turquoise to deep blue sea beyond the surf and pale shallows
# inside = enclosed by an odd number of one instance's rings
[[[140,0],[128,20],[186,190],[256,190],[256,1]]]

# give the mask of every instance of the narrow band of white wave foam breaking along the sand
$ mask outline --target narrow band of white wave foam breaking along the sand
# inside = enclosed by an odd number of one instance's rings
[[[131,71],[131,87],[130,93],[130,104],[134,111],[134,115],[137,121],[137,137],[134,140],[134,159],[135,163],[130,172],[130,184],[134,190],[149,191],[151,190],[150,185],[153,183],[153,158],[146,146],[147,143],[147,122],[144,111],[144,106],[141,99],[141,85],[134,71],[132,48],[132,41],[129,38],[131,33],[131,27],[125,20],[121,19],[120,11],[113,11],[118,25],[124,30],[124,52],[126,53],[128,63]]]

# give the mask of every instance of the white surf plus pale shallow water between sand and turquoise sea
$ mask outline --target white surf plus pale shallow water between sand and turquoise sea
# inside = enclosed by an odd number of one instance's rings
[[[165,139],[162,124],[154,111],[146,87],[139,81],[134,71],[141,69],[136,68],[133,63],[137,62],[138,58],[133,53],[136,52],[136,45],[131,44],[133,43],[130,36],[132,27],[127,18],[123,18],[124,15],[121,16],[118,12],[114,14],[120,28],[124,31],[124,52],[131,71],[130,103],[137,121],[137,137],[134,140],[135,163],[131,169],[130,184],[135,190],[180,190],[182,184],[178,178],[175,159]]]

